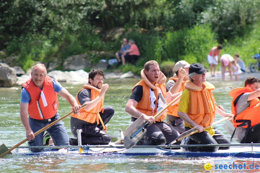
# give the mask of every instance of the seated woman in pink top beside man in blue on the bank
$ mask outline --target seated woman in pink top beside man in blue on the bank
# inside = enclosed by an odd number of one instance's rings
[[[128,44],[130,45],[130,49],[126,50],[122,55],[122,64],[125,65],[126,62],[130,62],[132,64],[135,64],[135,61],[139,58],[140,52],[136,44],[134,43],[133,39],[130,39],[128,41]],[[128,53],[128,54],[127,54]]]

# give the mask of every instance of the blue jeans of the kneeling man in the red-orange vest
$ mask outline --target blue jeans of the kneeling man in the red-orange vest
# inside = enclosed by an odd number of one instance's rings
[[[58,114],[50,118],[51,121],[36,120],[29,116],[29,124],[33,132],[36,133],[38,130],[44,128],[59,118],[60,116]],[[69,136],[62,121],[57,122],[53,126],[49,127],[46,131],[50,134],[55,146],[69,145]],[[44,131],[36,135],[35,139],[28,141],[29,146],[43,146],[43,135]],[[30,148],[30,150],[33,153],[42,151],[42,149],[39,148]]]

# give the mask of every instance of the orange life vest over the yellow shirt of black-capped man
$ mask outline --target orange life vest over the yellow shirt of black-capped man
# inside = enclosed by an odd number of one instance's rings
[[[189,81],[184,84],[190,92],[190,108],[187,115],[197,124],[211,126],[215,118],[216,103],[211,90],[214,85],[209,82],[203,83],[203,88]]]

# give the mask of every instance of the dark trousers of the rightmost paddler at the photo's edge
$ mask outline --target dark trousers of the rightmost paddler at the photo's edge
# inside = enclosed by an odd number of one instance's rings
[[[260,143],[260,123],[255,124],[253,127],[250,128],[246,139],[244,137],[244,139],[242,141],[242,143]]]

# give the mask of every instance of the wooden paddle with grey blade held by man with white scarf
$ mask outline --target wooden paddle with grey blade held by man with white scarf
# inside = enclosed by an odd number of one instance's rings
[[[165,106],[163,109],[161,109],[153,117],[156,118],[158,115],[160,115],[162,112],[164,112],[165,109],[167,109],[169,106],[171,106],[172,103],[175,102],[181,96],[181,94],[182,93],[180,93],[175,99],[173,99],[167,106]],[[141,115],[130,126],[128,126],[125,131],[125,137],[124,137],[125,148],[129,149],[134,144],[136,144],[136,142],[138,142],[146,134],[146,128],[148,126],[149,126],[149,122],[145,122],[143,115]]]

